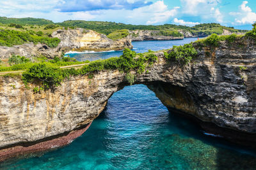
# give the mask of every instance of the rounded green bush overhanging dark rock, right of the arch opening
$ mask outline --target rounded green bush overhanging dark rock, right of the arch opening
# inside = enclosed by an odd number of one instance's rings
[[[169,55],[166,56],[168,60],[176,60],[180,64],[188,64],[197,55],[195,48],[191,44],[184,46],[173,46]]]

